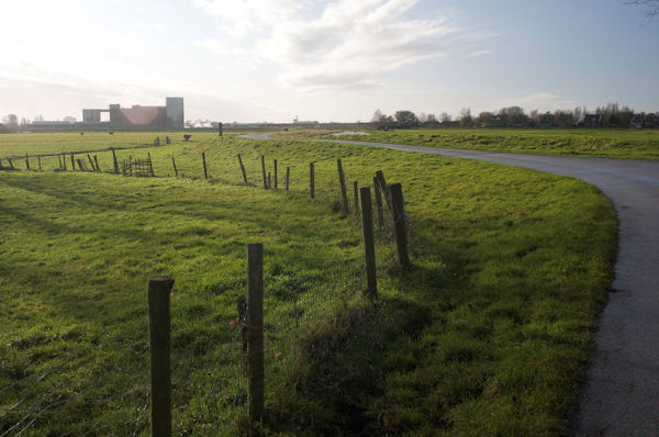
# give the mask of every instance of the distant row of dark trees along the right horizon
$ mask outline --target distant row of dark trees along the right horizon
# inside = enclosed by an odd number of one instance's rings
[[[396,111],[387,115],[377,110],[370,121],[373,127],[380,130],[406,127],[659,127],[659,113],[634,112],[627,105],[608,103],[597,107],[589,113],[585,107],[573,110],[556,110],[539,112],[533,110],[526,113],[521,107],[501,108],[499,111],[483,111],[478,115],[471,114],[471,109],[465,108],[454,121],[446,112],[439,119],[435,114],[420,114],[412,111]]]

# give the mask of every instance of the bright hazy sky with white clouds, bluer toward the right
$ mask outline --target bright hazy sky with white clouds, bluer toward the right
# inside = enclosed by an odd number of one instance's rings
[[[659,16],[625,0],[0,1],[0,116],[369,121],[520,105],[659,111]]]

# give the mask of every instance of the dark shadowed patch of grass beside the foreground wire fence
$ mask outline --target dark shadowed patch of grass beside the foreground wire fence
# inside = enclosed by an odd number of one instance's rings
[[[386,298],[325,318],[295,344],[297,359],[280,390],[269,395],[265,426],[295,435],[379,435],[370,405],[390,372],[416,366],[415,340],[431,323],[417,303]]]

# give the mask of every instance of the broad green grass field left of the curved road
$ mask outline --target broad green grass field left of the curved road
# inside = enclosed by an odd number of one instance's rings
[[[423,135],[462,147],[480,131],[460,132]],[[616,254],[615,214],[596,189],[308,138],[181,136],[0,135],[0,436],[148,435],[155,274],[176,281],[175,435],[567,433]],[[638,146],[648,156],[657,150],[649,136]],[[122,148],[133,146],[144,147]],[[155,177],[114,175],[108,147],[120,165],[149,154]],[[76,150],[96,150],[100,171],[71,171],[70,161],[64,171],[58,156],[42,157],[36,171],[36,155]],[[21,157],[14,170],[8,156]],[[278,188],[264,189],[261,156],[272,178],[277,159]],[[87,154],[76,157],[89,169]],[[372,187],[377,170],[403,187],[412,268],[398,268],[390,235],[377,233],[375,301],[361,293],[361,221],[342,213],[337,158],[350,208],[353,181]],[[246,419],[241,337],[231,328],[254,242],[265,247],[258,425]]]

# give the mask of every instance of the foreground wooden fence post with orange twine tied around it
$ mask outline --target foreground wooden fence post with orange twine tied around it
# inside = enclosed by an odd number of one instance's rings
[[[264,415],[264,245],[247,245],[247,350],[249,421]]]

